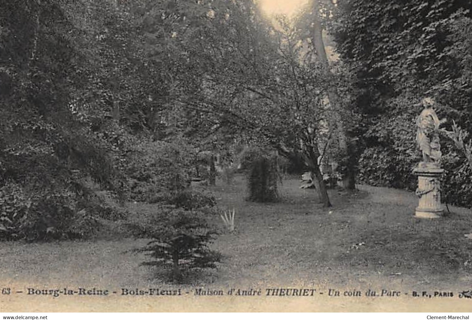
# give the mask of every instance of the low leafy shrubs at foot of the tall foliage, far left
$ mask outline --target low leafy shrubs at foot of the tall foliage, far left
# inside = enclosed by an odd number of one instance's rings
[[[26,188],[11,181],[0,188],[0,240],[87,238],[100,230],[101,219],[125,215],[123,208],[85,189]]]

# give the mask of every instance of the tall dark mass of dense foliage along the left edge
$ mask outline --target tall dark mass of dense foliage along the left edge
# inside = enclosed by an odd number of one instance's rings
[[[117,197],[122,181],[110,143],[71,112],[90,57],[59,2],[6,1],[0,21],[1,238],[89,234],[103,201],[86,181]]]

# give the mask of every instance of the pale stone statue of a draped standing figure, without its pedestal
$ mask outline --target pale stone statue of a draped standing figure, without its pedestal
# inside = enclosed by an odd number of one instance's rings
[[[439,118],[432,108],[434,101],[424,98],[421,101],[424,109],[416,118],[416,142],[421,150],[423,161],[419,167],[439,168],[441,165],[441,146],[439,144]]]

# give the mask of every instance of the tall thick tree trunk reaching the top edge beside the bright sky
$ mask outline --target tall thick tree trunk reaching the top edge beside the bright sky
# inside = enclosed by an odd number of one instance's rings
[[[313,45],[316,50],[316,54],[318,59],[323,66],[324,73],[329,82],[332,82],[333,74],[329,69],[329,62],[328,56],[326,55],[326,50],[323,42],[323,35],[322,35],[322,26],[319,17],[320,13],[320,4],[318,3],[319,0],[312,0],[313,1]],[[339,140],[339,149],[343,153],[343,158],[346,160],[346,168],[345,172],[343,172],[343,185],[344,188],[347,190],[354,190],[355,189],[355,171],[354,171],[354,164],[355,161],[352,161],[352,155],[349,152],[349,143],[348,137],[346,135],[346,129],[343,123],[343,120],[339,116],[338,110],[340,109],[339,103],[339,95],[337,94],[337,88],[334,84],[331,84],[328,89],[328,99],[329,105],[332,108],[332,117],[329,119],[329,130],[337,130],[337,136]]]

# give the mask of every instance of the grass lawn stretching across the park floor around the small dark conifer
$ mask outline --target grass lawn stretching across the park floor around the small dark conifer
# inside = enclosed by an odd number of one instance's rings
[[[323,208],[315,191],[298,186],[296,178],[284,180],[277,203],[246,202],[242,177],[232,185],[196,187],[211,191],[221,208],[235,208],[236,230],[212,244],[224,256],[219,269],[195,275],[188,286],[470,289],[469,210],[453,207],[441,219],[415,219],[413,193],[369,186],[354,194],[330,190],[334,205]],[[154,208],[129,206],[130,220],[145,219]],[[214,222],[224,228],[221,218]],[[144,257],[131,250],[145,243],[119,222],[93,241],[4,242],[0,283],[171,287],[159,270],[139,266]]]

